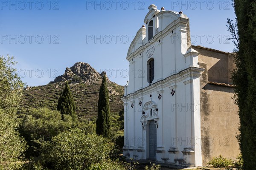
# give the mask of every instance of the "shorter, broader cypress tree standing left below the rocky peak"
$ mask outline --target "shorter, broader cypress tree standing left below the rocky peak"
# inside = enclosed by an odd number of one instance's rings
[[[69,114],[72,117],[72,121],[76,120],[76,105],[70,91],[68,82],[65,83],[65,88],[61,92],[58,99],[57,111],[61,111],[62,119],[64,114]]]

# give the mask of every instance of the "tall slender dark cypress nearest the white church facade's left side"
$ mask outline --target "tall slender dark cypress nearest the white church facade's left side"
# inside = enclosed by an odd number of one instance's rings
[[[108,82],[106,74],[103,75],[102,84],[99,91],[98,117],[96,121],[96,133],[103,137],[110,136],[110,109],[108,96]]]

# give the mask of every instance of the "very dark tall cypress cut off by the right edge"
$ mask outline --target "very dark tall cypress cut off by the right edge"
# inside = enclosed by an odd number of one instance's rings
[[[235,43],[236,69],[232,80],[235,102],[239,107],[239,146],[244,160],[244,170],[256,168],[256,2],[234,0],[236,26],[229,23]],[[238,31],[238,36],[236,32]]]

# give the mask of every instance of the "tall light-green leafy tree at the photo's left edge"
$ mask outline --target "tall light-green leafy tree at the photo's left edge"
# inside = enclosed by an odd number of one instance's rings
[[[0,169],[17,169],[17,161],[26,150],[26,142],[16,128],[17,107],[22,97],[23,83],[13,68],[13,57],[0,57]]]

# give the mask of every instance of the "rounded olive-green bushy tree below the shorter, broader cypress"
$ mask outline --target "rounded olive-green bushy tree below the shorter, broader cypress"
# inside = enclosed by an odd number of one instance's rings
[[[34,142],[36,139],[43,138],[50,141],[52,137],[72,127],[70,115],[63,115],[59,111],[51,111],[47,108],[32,109],[21,122],[19,127],[20,134],[25,137],[29,144],[26,156],[38,156],[35,147],[39,147]]]

